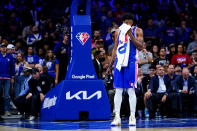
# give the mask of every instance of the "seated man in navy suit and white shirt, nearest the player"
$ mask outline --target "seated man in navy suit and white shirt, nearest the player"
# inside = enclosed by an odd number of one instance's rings
[[[160,104],[160,113],[164,117],[166,100],[171,90],[171,85],[169,79],[164,76],[164,68],[161,66],[158,69],[158,74],[155,75],[149,84],[147,97],[147,106],[150,113],[149,118],[155,118],[155,112],[158,104]]]

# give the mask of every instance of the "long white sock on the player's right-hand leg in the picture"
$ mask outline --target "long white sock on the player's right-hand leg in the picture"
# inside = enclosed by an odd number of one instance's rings
[[[135,110],[136,110],[136,95],[135,95],[135,88],[129,88],[127,90],[129,95],[129,105],[130,105],[130,115],[135,117]]]

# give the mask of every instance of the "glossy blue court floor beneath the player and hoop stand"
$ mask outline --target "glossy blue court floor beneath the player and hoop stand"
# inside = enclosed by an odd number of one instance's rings
[[[0,131],[197,131],[197,118],[166,118],[137,120],[136,127],[129,127],[122,120],[119,127],[111,127],[108,121],[0,121]]]

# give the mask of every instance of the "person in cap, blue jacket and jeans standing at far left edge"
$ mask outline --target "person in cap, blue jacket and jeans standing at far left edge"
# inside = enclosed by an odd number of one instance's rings
[[[0,47],[0,94],[4,91],[4,111],[9,116],[10,108],[10,84],[14,81],[14,60],[13,57],[6,53],[6,44],[2,43]]]

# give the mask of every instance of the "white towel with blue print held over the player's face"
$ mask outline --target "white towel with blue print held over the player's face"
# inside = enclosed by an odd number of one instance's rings
[[[130,51],[130,41],[129,36],[127,35],[127,32],[129,29],[131,29],[131,26],[127,24],[122,24],[120,27],[120,34],[119,34],[119,40],[118,40],[118,48],[117,48],[117,65],[116,68],[121,71],[122,67],[128,66],[128,60],[129,60],[129,51]]]

